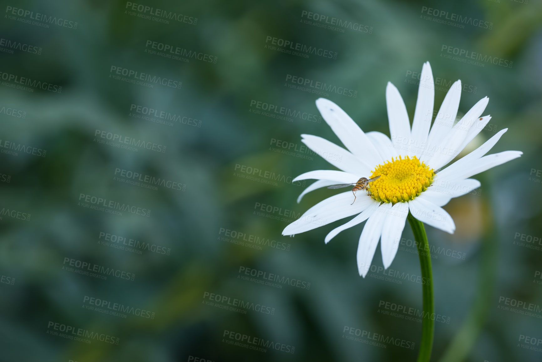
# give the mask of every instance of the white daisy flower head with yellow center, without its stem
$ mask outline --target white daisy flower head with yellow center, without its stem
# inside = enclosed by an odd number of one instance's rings
[[[446,94],[431,127],[434,96],[433,73],[427,62],[422,68],[411,128],[401,94],[388,82],[386,105],[391,139],[381,132],[364,133],[339,106],[330,100],[318,99],[316,105],[322,117],[347,150],[318,136],[301,135],[307,147],[341,171],[315,170],[295,177],[293,181],[318,180],[299,195],[298,202],[306,193],[321,187],[354,184],[361,177],[380,177],[368,183],[366,191],[358,190],[353,204],[351,190],[333,195],[309,208],[282,234],[298,234],[357,214],[328,233],[325,242],[327,244],[339,232],[367,220],[357,252],[359,275],[365,277],[378,240],[381,240],[384,268],[390,266],[409,211],[423,223],[453,233],[454,220],[441,206],[451,198],[480,187],[480,182],[469,179],[470,176],[513,160],[522,153],[504,151],[485,156],[507,131],[504,129],[478,149],[440,170],[472,141],[491,117],[480,117],[489,101],[485,97],[454,125],[461,97],[461,81],[457,80]]]

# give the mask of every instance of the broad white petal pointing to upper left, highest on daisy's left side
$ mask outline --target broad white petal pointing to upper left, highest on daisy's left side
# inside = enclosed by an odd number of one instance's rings
[[[316,106],[335,135],[352,154],[370,165],[383,162],[369,138],[341,107],[325,98],[317,99]]]

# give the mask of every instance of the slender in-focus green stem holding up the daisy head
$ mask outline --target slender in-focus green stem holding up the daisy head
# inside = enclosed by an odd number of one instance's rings
[[[418,247],[418,256],[420,256],[420,268],[422,270],[422,296],[423,296],[423,319],[422,319],[422,340],[420,341],[420,352],[418,352],[418,362],[429,362],[431,358],[431,348],[433,348],[433,334],[435,331],[435,322],[431,315],[435,312],[433,302],[433,272],[431,271],[431,253],[429,252],[429,243],[423,223],[408,213],[408,221],[414,234],[414,239]],[[423,283],[425,281],[425,283]]]

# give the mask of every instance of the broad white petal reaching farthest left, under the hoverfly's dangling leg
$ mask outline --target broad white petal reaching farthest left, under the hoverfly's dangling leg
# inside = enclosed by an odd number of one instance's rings
[[[356,202],[352,191],[333,195],[330,198],[318,202],[309,208],[298,220],[286,226],[282,235],[299,234],[314,228],[333,223],[362,212],[373,201],[371,197],[363,192],[356,195]],[[352,204],[352,205],[350,205]]]

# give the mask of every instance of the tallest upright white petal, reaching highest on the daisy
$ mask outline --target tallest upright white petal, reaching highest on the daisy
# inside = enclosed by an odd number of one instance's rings
[[[414,120],[412,120],[412,130],[410,131],[410,139],[413,141],[411,143],[412,148],[418,157],[422,154],[423,146],[427,142],[431,119],[433,119],[434,102],[435,82],[433,81],[431,66],[429,62],[426,62],[422,67],[416,110],[414,111]]]

